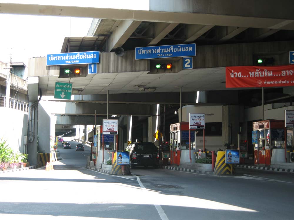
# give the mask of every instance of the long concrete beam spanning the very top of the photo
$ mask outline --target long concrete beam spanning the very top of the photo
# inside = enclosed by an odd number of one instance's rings
[[[272,29],[279,29],[279,23],[294,21],[292,7],[285,7],[291,6],[292,0],[268,0],[266,4],[256,0],[141,0],[128,5],[116,5],[109,0],[103,2],[103,6],[100,2],[91,5],[69,2],[63,6],[29,4],[27,1],[17,4],[19,1],[16,0],[6,2],[0,3],[0,13],[252,28],[273,26]],[[294,30],[294,24],[289,23],[283,29]]]

